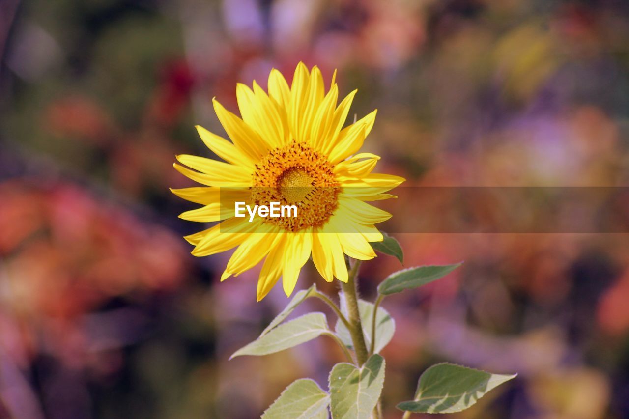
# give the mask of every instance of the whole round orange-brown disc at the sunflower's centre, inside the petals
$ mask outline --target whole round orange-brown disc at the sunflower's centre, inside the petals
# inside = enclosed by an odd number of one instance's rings
[[[304,143],[292,142],[271,150],[255,168],[253,203],[297,206],[297,216],[269,217],[265,222],[298,232],[325,224],[338,208],[340,187],[333,165]]]

